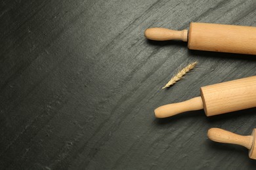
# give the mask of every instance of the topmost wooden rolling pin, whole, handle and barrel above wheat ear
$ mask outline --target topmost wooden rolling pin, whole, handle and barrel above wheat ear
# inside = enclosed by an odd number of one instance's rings
[[[191,22],[189,31],[152,27],[145,37],[155,41],[182,40],[191,50],[256,54],[256,27]]]

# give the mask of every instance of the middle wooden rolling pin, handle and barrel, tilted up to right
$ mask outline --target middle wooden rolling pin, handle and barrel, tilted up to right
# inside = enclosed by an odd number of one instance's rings
[[[256,76],[200,88],[201,96],[155,109],[157,118],[204,109],[206,116],[256,107]]]

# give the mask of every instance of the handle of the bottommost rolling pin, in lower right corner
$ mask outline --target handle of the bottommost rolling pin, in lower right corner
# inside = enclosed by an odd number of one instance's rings
[[[237,135],[236,133],[225,131],[219,128],[209,129],[207,135],[211,141],[218,143],[240,144],[248,149],[251,149],[251,146],[253,145],[253,136]]]

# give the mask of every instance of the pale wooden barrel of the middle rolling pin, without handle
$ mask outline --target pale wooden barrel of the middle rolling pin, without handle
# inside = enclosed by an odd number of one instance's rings
[[[256,76],[201,88],[206,116],[256,107]]]

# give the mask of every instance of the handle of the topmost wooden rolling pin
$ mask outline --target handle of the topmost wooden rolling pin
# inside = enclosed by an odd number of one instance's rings
[[[145,37],[147,39],[156,41],[167,41],[167,40],[181,40],[188,41],[188,30],[184,29],[182,31],[175,31],[172,29],[166,29],[162,27],[152,27],[145,31]]]

